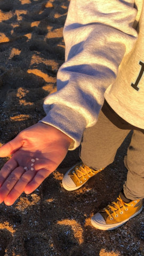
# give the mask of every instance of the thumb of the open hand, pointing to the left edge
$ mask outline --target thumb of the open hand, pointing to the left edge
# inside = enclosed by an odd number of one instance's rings
[[[18,135],[13,140],[7,142],[0,148],[0,157],[12,155],[15,151],[22,147],[22,140]]]

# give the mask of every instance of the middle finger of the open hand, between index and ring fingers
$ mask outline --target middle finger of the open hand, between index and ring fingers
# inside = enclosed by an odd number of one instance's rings
[[[17,167],[13,172],[11,172],[0,188],[0,203],[4,201],[5,197],[10,193],[24,172],[25,170],[22,167]]]

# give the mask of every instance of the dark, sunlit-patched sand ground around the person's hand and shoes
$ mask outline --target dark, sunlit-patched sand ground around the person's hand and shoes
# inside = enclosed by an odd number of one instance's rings
[[[80,0],[79,0],[80,1]],[[0,0],[0,143],[45,116],[43,100],[56,90],[65,59],[62,29],[67,0]],[[116,199],[126,179],[123,157],[77,191],[61,185],[78,149],[31,195],[0,205],[0,256],[142,256],[144,214],[113,231],[91,226],[91,216]],[[1,158],[0,167],[9,159]]]

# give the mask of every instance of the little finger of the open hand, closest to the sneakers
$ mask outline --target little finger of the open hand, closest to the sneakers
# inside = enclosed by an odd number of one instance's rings
[[[43,169],[39,170],[34,179],[26,186],[25,193],[30,194],[32,193],[41,183],[44,181],[44,179],[49,176],[51,171]]]

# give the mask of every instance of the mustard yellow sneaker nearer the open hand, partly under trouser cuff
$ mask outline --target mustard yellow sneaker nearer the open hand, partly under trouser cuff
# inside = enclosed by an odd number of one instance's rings
[[[67,171],[62,180],[63,188],[68,191],[76,190],[81,188],[87,180],[93,177],[95,174],[103,169],[94,171],[90,167],[84,165],[82,162],[74,165],[70,170]]]

